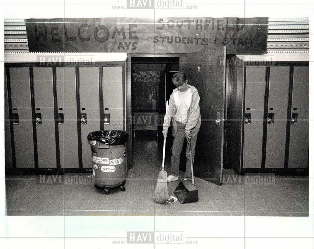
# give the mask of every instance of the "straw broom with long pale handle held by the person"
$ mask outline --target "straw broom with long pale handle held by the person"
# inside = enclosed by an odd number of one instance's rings
[[[168,101],[166,102],[166,113],[168,111]],[[168,183],[167,183],[167,172],[165,171],[165,147],[166,137],[164,137],[164,148],[162,152],[162,169],[158,174],[157,185],[154,192],[154,202],[164,203],[168,197]]]

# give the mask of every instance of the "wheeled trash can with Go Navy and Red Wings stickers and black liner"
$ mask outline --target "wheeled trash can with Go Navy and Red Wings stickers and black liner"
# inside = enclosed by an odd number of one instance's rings
[[[125,191],[128,136],[122,130],[98,130],[87,136],[92,151],[94,185],[107,195],[112,189]]]

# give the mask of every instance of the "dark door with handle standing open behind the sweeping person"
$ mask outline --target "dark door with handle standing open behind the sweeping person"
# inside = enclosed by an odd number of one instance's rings
[[[198,132],[194,174],[221,185],[225,112],[225,47],[180,56],[180,71],[198,89],[201,127]]]

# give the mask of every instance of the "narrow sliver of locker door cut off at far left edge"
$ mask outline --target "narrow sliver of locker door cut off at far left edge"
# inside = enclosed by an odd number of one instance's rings
[[[7,74],[6,70],[4,70],[4,167],[12,168],[13,161],[7,84]]]

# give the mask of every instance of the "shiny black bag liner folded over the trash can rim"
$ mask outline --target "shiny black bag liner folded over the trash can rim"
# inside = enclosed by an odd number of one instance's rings
[[[129,134],[123,130],[96,130],[87,136],[88,141],[98,141],[109,145],[122,145],[127,143]]]

